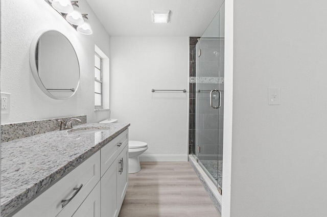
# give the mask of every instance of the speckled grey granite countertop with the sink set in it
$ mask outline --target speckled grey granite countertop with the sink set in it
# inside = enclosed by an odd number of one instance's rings
[[[1,144],[1,216],[8,216],[72,171],[130,124],[82,124],[74,128],[109,126],[109,130],[46,132]]]

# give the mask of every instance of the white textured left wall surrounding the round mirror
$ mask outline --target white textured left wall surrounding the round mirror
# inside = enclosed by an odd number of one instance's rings
[[[88,13],[94,32],[90,36],[76,32],[43,0],[2,1],[1,92],[11,94],[11,111],[2,116],[2,124],[72,115],[87,115],[88,122],[109,117],[109,111],[94,112],[94,49],[97,44],[110,57],[110,37],[86,1],[78,4],[83,13]],[[33,78],[29,50],[34,35],[41,30],[58,30],[76,49],[80,85],[70,99],[46,96]]]

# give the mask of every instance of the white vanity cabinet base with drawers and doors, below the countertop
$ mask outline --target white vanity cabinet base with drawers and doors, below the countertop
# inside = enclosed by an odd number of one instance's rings
[[[118,216],[127,185],[128,129],[13,216]]]

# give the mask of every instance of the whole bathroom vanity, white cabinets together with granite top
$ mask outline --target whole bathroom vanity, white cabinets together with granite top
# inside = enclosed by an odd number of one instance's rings
[[[128,126],[82,124],[3,143],[2,216],[118,216]]]

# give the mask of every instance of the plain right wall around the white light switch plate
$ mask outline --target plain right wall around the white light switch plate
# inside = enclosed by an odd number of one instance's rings
[[[326,215],[326,9],[234,0],[231,216]]]

